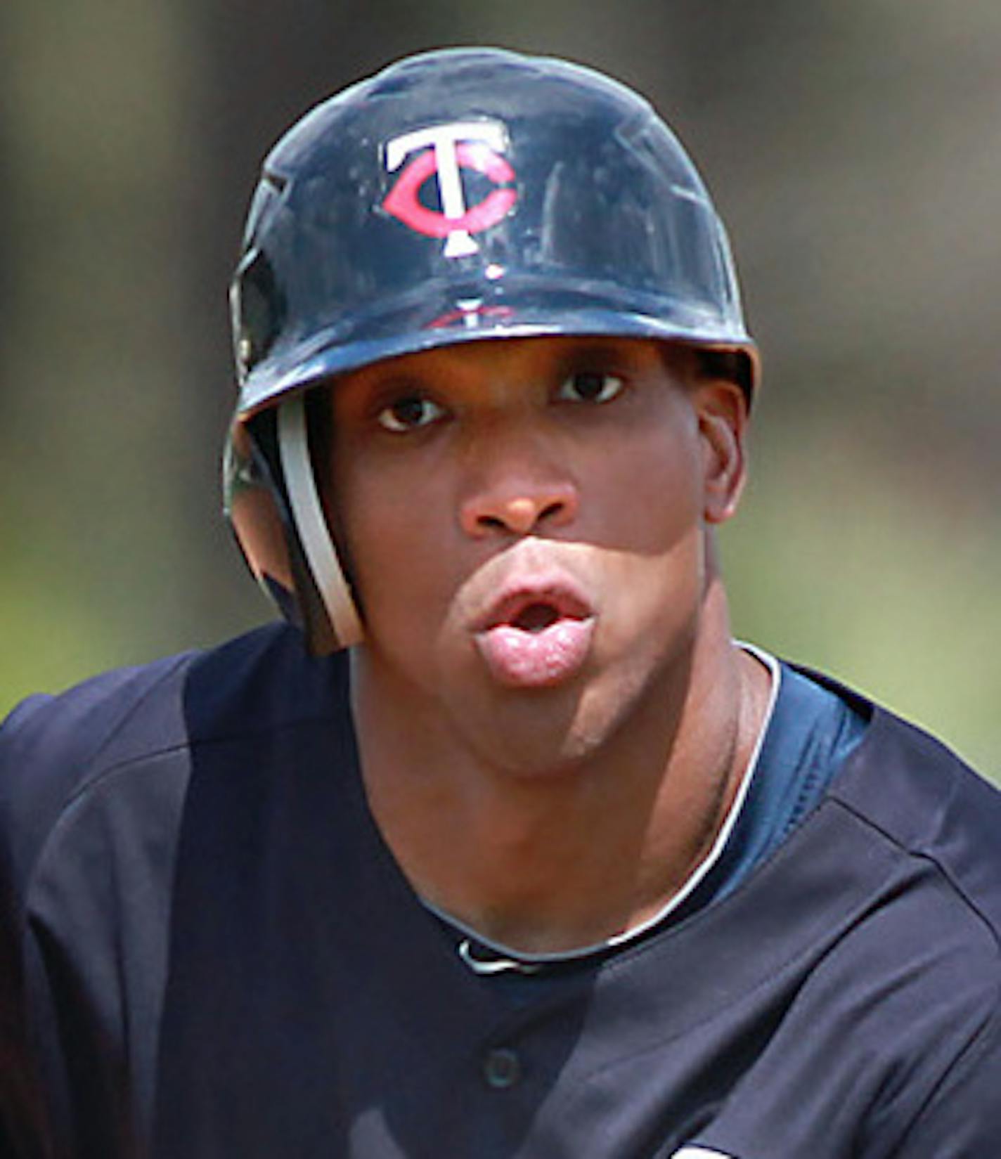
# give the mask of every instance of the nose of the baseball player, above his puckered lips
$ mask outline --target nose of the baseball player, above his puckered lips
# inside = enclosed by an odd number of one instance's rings
[[[514,459],[500,447],[495,451],[492,464],[481,460],[460,506],[459,519],[467,535],[528,535],[573,522],[579,496],[564,472],[553,464],[529,460],[524,451]]]

